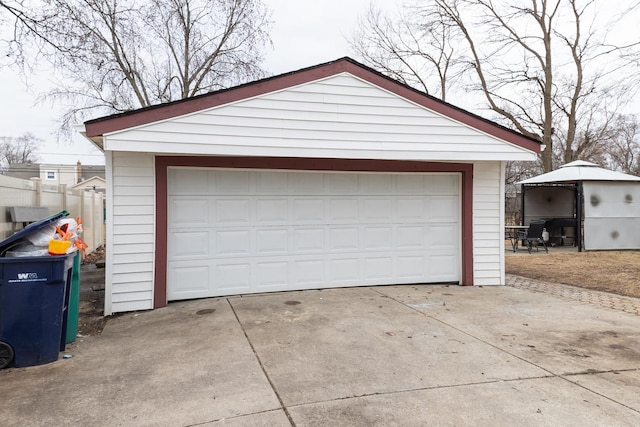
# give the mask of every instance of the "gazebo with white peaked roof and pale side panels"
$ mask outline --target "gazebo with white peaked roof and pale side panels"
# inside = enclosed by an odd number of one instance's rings
[[[577,160],[521,181],[522,218],[579,250],[640,249],[640,177]]]

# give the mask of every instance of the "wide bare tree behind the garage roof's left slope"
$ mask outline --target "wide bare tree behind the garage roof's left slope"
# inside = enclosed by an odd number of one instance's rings
[[[260,0],[13,3],[0,6],[15,17],[20,42],[40,42],[61,77],[48,98],[66,103],[66,124],[92,110],[127,111],[264,75],[271,22]]]

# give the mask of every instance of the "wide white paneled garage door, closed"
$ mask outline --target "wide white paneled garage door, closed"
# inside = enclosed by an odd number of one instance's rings
[[[171,168],[169,300],[460,278],[458,174]]]

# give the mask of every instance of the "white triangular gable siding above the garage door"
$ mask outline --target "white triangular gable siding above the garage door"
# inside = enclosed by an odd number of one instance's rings
[[[530,151],[349,74],[109,134],[106,150],[464,162]]]

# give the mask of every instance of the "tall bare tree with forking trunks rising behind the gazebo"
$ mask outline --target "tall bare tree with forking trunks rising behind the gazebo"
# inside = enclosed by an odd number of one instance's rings
[[[608,44],[591,25],[598,13],[596,1],[435,1],[464,34],[478,87],[491,110],[546,146],[544,171],[554,168],[555,144],[564,147],[564,161],[575,158],[580,143],[589,142],[578,138],[585,105],[604,111],[593,106],[611,99],[612,88],[623,82],[612,78],[622,67],[614,61],[622,47]],[[621,93],[616,92],[618,99]],[[602,123],[610,119],[590,118]]]

